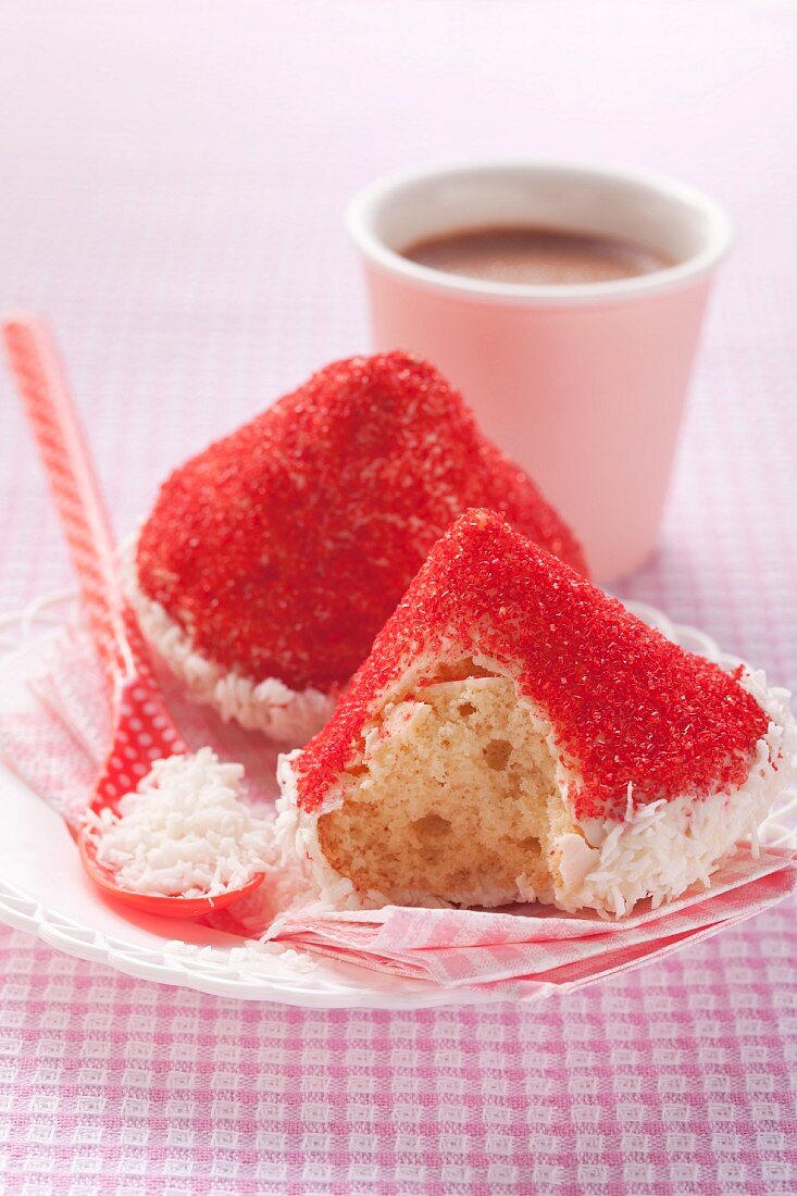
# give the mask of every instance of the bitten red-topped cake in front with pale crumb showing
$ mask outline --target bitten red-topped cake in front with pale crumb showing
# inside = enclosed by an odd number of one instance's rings
[[[470,511],[324,730],[281,757],[279,832],[341,908],[536,899],[619,916],[756,842],[792,775],[787,697]]]

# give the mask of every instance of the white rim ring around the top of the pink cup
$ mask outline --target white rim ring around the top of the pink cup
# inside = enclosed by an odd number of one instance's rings
[[[432,178],[451,178],[462,175],[491,175],[518,171],[527,175],[572,175],[584,181],[594,179],[627,183],[646,188],[686,205],[706,221],[704,245],[685,262],[638,274],[629,279],[609,282],[529,283],[495,282],[471,279],[460,274],[446,274],[432,267],[420,266],[390,249],[373,231],[373,216],[379,205],[394,191],[412,183]],[[501,304],[539,306],[580,305],[637,299],[680,288],[701,275],[708,274],[728,252],[732,239],[732,225],[725,210],[704,191],[687,183],[677,182],[647,171],[625,167],[598,166],[590,163],[547,160],[534,158],[481,159],[457,161],[440,166],[418,167],[384,175],[359,191],[346,208],[346,228],[360,252],[376,267],[400,275],[404,281],[425,291],[433,291],[461,298],[480,299]]]

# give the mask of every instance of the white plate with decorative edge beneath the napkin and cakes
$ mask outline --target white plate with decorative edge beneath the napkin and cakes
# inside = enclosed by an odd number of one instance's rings
[[[702,631],[674,627],[664,615],[640,603],[627,605],[689,651],[726,666],[737,663]],[[25,678],[54,629],[74,610],[72,594],[56,594],[0,618],[0,709],[32,708]],[[308,971],[279,954],[242,963],[231,956],[232,948],[241,946],[239,939],[187,922],[130,915],[107,902],[84,874],[61,818],[1,763],[0,808],[0,921],[37,934],[67,954],[215,996],[309,1008],[412,1009],[498,999],[477,989],[443,989],[327,960]],[[767,837],[784,842],[795,834],[793,794],[777,817],[777,823],[771,819],[767,824]],[[193,948],[177,950],[177,939]],[[200,954],[206,946],[214,948],[211,959]]]

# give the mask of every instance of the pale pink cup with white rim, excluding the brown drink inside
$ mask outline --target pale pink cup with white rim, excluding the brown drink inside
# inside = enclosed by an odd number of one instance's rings
[[[530,286],[418,266],[425,237],[507,224],[619,237],[675,264],[615,282]],[[383,179],[347,225],[377,349],[428,358],[540,483],[594,575],[656,544],[708,291],[729,222],[705,195],[645,175],[498,163]]]

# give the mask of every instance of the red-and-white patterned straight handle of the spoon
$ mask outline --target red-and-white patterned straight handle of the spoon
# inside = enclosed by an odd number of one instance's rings
[[[121,684],[140,671],[141,649],[122,594],[110,523],[63,366],[47,324],[37,316],[6,317],[2,334],[78,573],[89,628],[111,689],[118,692]]]

